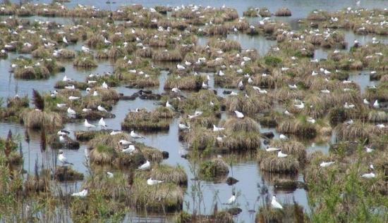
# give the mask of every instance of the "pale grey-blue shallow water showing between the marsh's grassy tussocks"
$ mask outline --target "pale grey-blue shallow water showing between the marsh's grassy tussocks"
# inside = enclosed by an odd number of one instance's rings
[[[49,2],[49,0],[44,0],[41,2]],[[50,1],[51,2],[51,1]],[[74,6],[75,4],[97,4],[100,8],[109,8],[108,4],[104,3],[105,1],[72,1],[71,3],[66,4],[67,6]],[[133,3],[141,3],[143,6],[154,6],[154,5],[181,5],[181,4],[189,4],[190,1],[123,1],[118,0],[116,4],[111,4],[111,8],[117,8],[121,4],[133,4]],[[355,1],[347,0],[347,1],[283,1],[283,0],[272,0],[272,1],[195,1],[195,4],[202,4],[202,6],[206,6],[207,4],[211,4],[212,6],[222,6],[225,4],[229,7],[234,7],[237,9],[238,13],[242,15],[242,11],[245,11],[248,6],[260,7],[266,6],[269,8],[269,11],[276,11],[280,6],[286,6],[291,9],[293,15],[290,18],[277,18],[279,20],[291,21],[291,27],[297,27],[296,20],[298,18],[304,18],[310,11],[313,11],[315,8],[322,8],[323,10],[339,10],[344,7],[352,6],[355,7]],[[366,8],[373,8],[376,6],[384,6],[387,5],[387,1],[371,1],[364,0],[360,6]],[[71,24],[72,21],[69,19],[63,18],[42,18],[42,17],[31,17],[28,18],[31,20],[42,20],[42,21],[56,21],[57,23]],[[229,39],[234,39],[238,42],[241,42],[241,46],[243,49],[257,49],[260,56],[265,55],[268,49],[271,46],[274,46],[276,42],[269,41],[261,36],[250,37],[245,34],[229,34]],[[359,36],[353,34],[352,32],[346,32],[346,41],[348,43],[352,43],[354,39],[358,39],[361,44],[365,44],[366,42],[370,42],[371,36]],[[382,39],[382,41],[387,42],[387,38]],[[201,37],[199,38],[199,44],[206,44],[207,38]],[[79,50],[81,44],[71,45],[68,48],[73,50]],[[317,49],[315,52],[315,58],[327,58],[327,53],[329,51],[323,49]],[[87,75],[92,73],[103,73],[103,72],[112,72],[113,67],[112,64],[103,60],[99,62],[99,66],[93,70],[77,70],[73,68],[71,63],[64,63],[66,66],[66,72],[61,72],[56,75],[51,76],[47,80],[22,80],[22,79],[14,79],[13,75],[8,72],[11,59],[16,58],[19,55],[15,53],[9,53],[7,60],[0,60],[0,96],[7,98],[8,96],[13,96],[14,94],[18,94],[20,96],[30,95],[32,93],[32,88],[39,89],[40,91],[49,91],[53,89],[55,82],[61,80],[63,75],[67,75],[70,78],[73,78],[78,81],[83,81]],[[362,71],[362,75],[358,75],[358,73],[351,74],[349,79],[355,81],[360,85],[361,91],[365,91],[365,87],[372,84],[377,84],[377,82],[370,82],[369,75],[364,75],[364,73],[369,73],[367,71]],[[157,88],[152,89],[154,92],[163,93],[163,85],[164,81],[168,75],[168,72],[162,71],[162,75],[159,77],[160,85]],[[200,75],[210,75],[210,87],[212,89],[217,90],[217,94],[224,96],[222,88],[214,88],[214,78],[212,73],[200,73]],[[125,87],[116,88],[117,91],[123,93],[125,95],[131,95],[137,89],[128,89]],[[236,89],[234,89],[236,91]],[[115,118],[106,119],[106,123],[109,129],[121,129],[121,121],[128,113],[128,110],[133,110],[135,108],[147,108],[147,110],[152,110],[159,106],[157,101],[147,101],[141,100],[140,98],[136,98],[135,101],[119,101],[111,111],[116,115]],[[225,114],[222,115],[223,118],[226,117]],[[179,118],[174,118],[171,120],[169,132],[161,132],[157,134],[146,134],[146,139],[140,139],[138,141],[144,142],[148,146],[154,146],[159,148],[162,151],[169,152],[169,158],[164,160],[164,163],[168,163],[169,165],[182,165],[186,172],[188,173],[188,179],[193,178],[193,174],[190,172],[190,163],[188,160],[181,158],[183,153],[186,153],[186,146],[181,144],[178,141],[178,122]],[[97,124],[97,122],[91,122],[92,124]],[[70,130],[71,132],[77,130],[85,130],[82,122],[68,123],[64,127],[65,129]],[[47,148],[45,151],[42,151],[40,148],[40,133],[30,131],[30,144],[27,144],[24,139],[25,128],[22,125],[18,125],[14,122],[1,122],[0,125],[0,136],[6,136],[8,130],[14,134],[20,134],[20,139],[22,139],[23,146],[23,155],[25,158],[24,169],[28,172],[33,172],[34,166],[37,160],[38,165],[45,165],[46,167],[52,167],[55,163],[56,158],[56,150],[51,150],[51,148]],[[279,138],[279,134],[276,132],[276,129],[267,129],[261,128],[261,132],[274,132],[275,139]],[[305,146],[307,147],[308,153],[313,151],[322,151],[323,153],[328,153],[330,140],[327,141],[303,141]],[[74,167],[76,170],[87,173],[87,167],[83,164],[85,163],[85,151],[87,151],[87,145],[81,144],[79,150],[66,150],[65,154],[68,160],[71,160],[74,163]],[[226,159],[228,155],[225,155]],[[260,200],[257,200],[259,191],[257,189],[257,184],[261,183],[262,178],[265,179],[265,184],[269,186],[269,193],[276,193],[278,199],[281,203],[292,202],[292,200],[296,200],[297,203],[302,205],[305,208],[306,212],[310,212],[308,209],[308,198],[306,191],[303,189],[297,189],[296,191],[285,192],[285,191],[274,191],[273,184],[270,183],[268,177],[262,175],[259,168],[257,167],[257,163],[255,158],[245,158],[245,159],[236,159],[230,167],[229,172],[230,177],[235,177],[239,180],[237,184],[234,186],[228,186],[225,183],[214,184],[212,181],[201,181],[202,184],[202,193],[205,198],[205,207],[201,208],[201,212],[210,213],[212,210],[212,206],[214,202],[217,202],[219,207],[226,208],[225,205],[222,205],[230,196],[231,191],[234,190],[238,192],[237,205],[243,209],[243,212],[236,217],[238,222],[254,222],[255,215],[251,215],[248,210],[257,210],[260,205]],[[303,181],[303,176],[299,175],[298,179]],[[188,182],[188,191],[186,193],[185,200],[190,201],[190,186],[193,185],[192,180]],[[78,181],[75,183],[68,183],[63,185],[66,187],[66,191],[77,191],[80,189],[82,182]],[[214,197],[214,194],[217,196]],[[183,205],[185,210],[192,210],[193,207],[186,208],[186,205]],[[136,213],[128,213],[126,216],[128,221],[134,222],[165,222],[171,219],[171,216],[166,217],[161,215],[152,215],[145,217],[144,215],[138,215]]]

